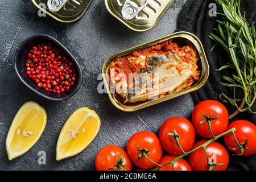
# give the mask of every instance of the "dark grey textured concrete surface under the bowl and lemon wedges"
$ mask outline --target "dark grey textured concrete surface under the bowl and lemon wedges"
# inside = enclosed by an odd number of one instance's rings
[[[30,0],[0,1],[0,170],[93,170],[94,158],[102,147],[117,144],[125,148],[129,137],[138,131],[158,133],[162,122],[169,117],[191,117],[194,104],[189,94],[124,113],[110,103],[107,94],[97,92],[101,82],[97,76],[108,56],[174,32],[177,15],[185,1],[176,1],[155,28],[142,33],[129,30],[112,17],[104,0],[93,0],[85,16],[71,24],[56,22],[49,16],[40,18]],[[58,39],[81,64],[84,78],[81,89],[66,101],[44,100],[28,90],[14,73],[14,54],[19,44],[28,36],[42,33]],[[38,102],[46,109],[46,130],[30,151],[9,161],[5,147],[7,131],[19,107],[27,101]],[[61,127],[69,115],[82,106],[100,115],[100,133],[81,154],[56,162],[56,142]],[[46,152],[46,165],[38,164],[39,151]]]

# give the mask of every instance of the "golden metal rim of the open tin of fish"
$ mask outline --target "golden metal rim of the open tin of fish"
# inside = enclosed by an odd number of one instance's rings
[[[202,66],[202,70],[201,70],[202,73],[201,73],[200,80],[197,81],[195,85],[191,86],[191,88],[181,90],[180,92],[171,93],[162,98],[147,101],[147,102],[144,102],[143,104],[139,104],[137,106],[126,106],[126,105],[123,105],[121,102],[117,101],[116,98],[114,97],[114,95],[110,92],[110,84],[109,84],[109,80],[108,80],[108,68],[109,68],[110,63],[112,63],[112,61],[114,61],[118,57],[125,56],[134,51],[138,51],[140,49],[150,47],[150,46],[153,46],[154,44],[158,44],[158,43],[164,42],[166,40],[174,39],[174,38],[184,38],[184,39],[189,40],[190,42],[192,42],[195,45],[197,52],[199,53],[201,66]],[[143,108],[146,108],[146,107],[149,107],[149,106],[152,106],[155,104],[159,104],[160,102],[171,100],[172,98],[179,97],[184,94],[191,93],[193,91],[200,89],[207,81],[207,79],[209,77],[209,72],[210,72],[210,68],[209,68],[208,60],[207,60],[203,45],[201,44],[200,40],[195,35],[193,35],[189,32],[176,32],[174,34],[164,36],[163,38],[152,40],[151,42],[144,43],[144,44],[126,49],[124,51],[115,53],[114,55],[110,56],[105,61],[104,65],[103,65],[102,77],[104,80],[104,85],[105,85],[106,91],[108,92],[108,96],[109,96],[109,99],[112,102],[112,104],[115,107],[117,107],[119,110],[132,112],[132,111],[141,110]]]

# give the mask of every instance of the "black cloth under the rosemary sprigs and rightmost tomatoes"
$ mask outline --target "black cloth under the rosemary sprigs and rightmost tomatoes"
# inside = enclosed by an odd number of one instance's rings
[[[221,92],[228,93],[232,96],[232,89],[227,89],[220,84],[222,73],[216,69],[224,65],[225,57],[227,53],[221,48],[217,47],[213,52],[210,49],[215,44],[209,39],[210,32],[213,32],[213,28],[217,26],[216,19],[220,19],[220,16],[209,16],[209,4],[216,3],[214,0],[188,0],[184,5],[183,10],[177,20],[177,31],[188,31],[195,34],[202,42],[205,53],[210,65],[210,76],[207,83],[200,90],[193,92],[192,97],[195,104],[203,100],[218,100],[218,96]],[[218,10],[221,9],[217,6]],[[243,0],[241,1],[241,10],[246,11],[246,18],[249,23],[255,22],[256,19],[256,1],[255,0]],[[226,105],[229,113],[233,113],[235,108],[230,105]],[[253,109],[256,104],[254,104]],[[242,113],[237,115],[232,121],[237,119],[247,119],[256,123],[256,115],[250,113]],[[230,122],[232,122],[230,121]],[[222,142],[222,141],[221,141]],[[256,171],[256,154],[249,157],[244,156],[232,156],[230,155],[230,164],[228,170],[253,170]]]

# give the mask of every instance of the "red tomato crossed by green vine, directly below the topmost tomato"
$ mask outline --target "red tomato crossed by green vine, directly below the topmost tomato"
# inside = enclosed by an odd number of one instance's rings
[[[208,140],[200,140],[193,146],[193,149],[201,146],[207,141]],[[225,171],[229,164],[228,151],[226,151],[226,149],[220,143],[217,142],[212,142],[208,144],[208,146],[206,147],[206,151],[207,156],[209,158],[209,162],[212,163],[212,165],[208,164],[208,160],[205,155],[204,149],[199,148],[198,150],[189,154],[189,163],[191,164],[192,169],[195,171]],[[214,168],[210,168],[210,166]]]

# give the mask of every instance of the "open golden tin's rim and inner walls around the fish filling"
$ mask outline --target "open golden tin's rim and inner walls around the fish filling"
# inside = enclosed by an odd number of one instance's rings
[[[193,84],[191,86],[189,86],[189,88],[184,88],[184,89],[178,90],[177,92],[167,94],[163,97],[159,97],[154,100],[147,100],[145,102],[141,102],[139,104],[134,104],[134,105],[124,104],[117,97],[115,97],[115,93],[112,91],[112,88],[110,86],[111,84],[110,84],[110,76],[109,76],[110,65],[112,65],[113,61],[115,61],[123,56],[130,55],[131,53],[138,52],[140,50],[144,50],[146,48],[167,42],[169,40],[171,40],[172,42],[175,42],[177,44],[180,44],[181,46],[184,46],[186,43],[189,43],[193,47],[195,47],[196,54],[198,57],[196,64],[198,65],[197,69],[199,69],[199,72],[200,72],[200,76],[197,79],[197,81],[193,82]],[[144,44],[141,44],[141,45],[133,47],[133,48],[129,48],[125,51],[115,53],[114,55],[110,56],[108,58],[108,60],[106,60],[104,66],[102,68],[102,76],[104,79],[105,89],[108,92],[108,96],[109,96],[112,104],[122,111],[137,111],[137,110],[143,109],[145,107],[159,104],[160,102],[171,100],[172,98],[182,96],[184,94],[187,94],[187,93],[193,92],[197,89],[200,89],[205,84],[205,82],[207,81],[207,79],[209,77],[209,64],[207,61],[207,57],[205,56],[204,48],[203,48],[200,40],[195,35],[193,35],[189,32],[176,32],[175,34],[165,36],[164,38],[153,40],[151,42],[144,43]],[[172,80],[171,80],[171,82],[172,82]]]

